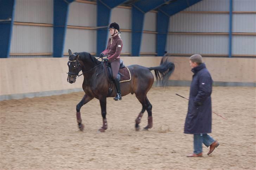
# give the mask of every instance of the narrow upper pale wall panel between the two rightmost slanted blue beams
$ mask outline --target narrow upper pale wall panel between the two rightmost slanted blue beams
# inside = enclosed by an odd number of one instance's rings
[[[147,12],[144,17],[143,30],[156,31],[156,16],[157,13]]]

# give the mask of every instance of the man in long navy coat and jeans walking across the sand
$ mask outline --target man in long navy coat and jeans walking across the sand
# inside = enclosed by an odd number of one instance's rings
[[[202,143],[206,147],[210,146],[207,155],[210,155],[219,146],[218,141],[207,134],[212,131],[211,93],[213,81],[201,55],[192,55],[189,63],[194,75],[190,86],[184,133],[194,135],[194,152],[187,157],[201,157],[203,155]]]

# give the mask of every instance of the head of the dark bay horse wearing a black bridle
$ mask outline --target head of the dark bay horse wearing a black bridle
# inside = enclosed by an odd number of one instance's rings
[[[82,66],[78,61],[78,57],[79,57],[78,53],[72,54],[71,50],[69,50],[69,61],[68,61],[69,72],[68,72],[68,79],[67,79],[69,83],[75,83],[76,78],[78,77],[78,73],[82,70]]]

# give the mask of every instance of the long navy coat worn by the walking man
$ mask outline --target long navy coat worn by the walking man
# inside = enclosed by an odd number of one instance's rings
[[[213,81],[204,63],[192,68],[191,71],[194,75],[190,86],[184,133],[211,133]]]

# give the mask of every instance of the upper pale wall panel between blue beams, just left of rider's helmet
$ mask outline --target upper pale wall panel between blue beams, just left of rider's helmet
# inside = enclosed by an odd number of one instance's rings
[[[68,25],[97,26],[97,5],[72,2],[69,7]]]

